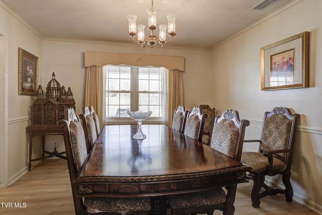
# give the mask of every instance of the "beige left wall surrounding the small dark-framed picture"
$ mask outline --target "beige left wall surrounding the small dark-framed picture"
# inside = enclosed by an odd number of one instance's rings
[[[1,124],[4,125],[4,141],[0,151],[0,186],[6,186],[27,171],[28,144],[26,126],[29,123],[29,106],[32,96],[18,95],[18,49],[19,47],[39,57],[42,71],[43,38],[36,34],[0,2],[0,35],[4,37],[4,65],[0,68],[3,86],[0,88],[4,103]],[[1,128],[1,127],[0,127]],[[38,150],[39,151],[39,150]],[[37,153],[37,150],[35,150]]]

